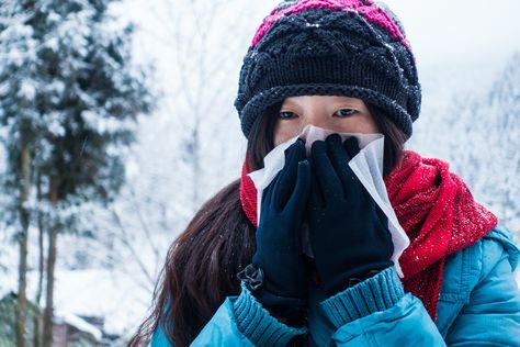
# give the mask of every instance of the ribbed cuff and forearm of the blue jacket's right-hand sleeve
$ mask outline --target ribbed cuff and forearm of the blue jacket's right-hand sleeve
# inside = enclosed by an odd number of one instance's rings
[[[337,346],[445,346],[422,302],[405,293],[394,267],[320,303]]]

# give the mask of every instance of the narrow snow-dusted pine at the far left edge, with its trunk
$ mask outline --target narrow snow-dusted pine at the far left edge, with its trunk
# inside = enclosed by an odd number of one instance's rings
[[[16,316],[18,346],[25,346],[27,300],[27,231],[30,224],[29,193],[31,187],[31,157],[35,133],[32,120],[37,117],[34,104],[36,91],[36,41],[33,27],[26,24],[29,13],[21,11],[16,1],[0,7],[0,122],[5,144],[7,172],[4,187],[12,193],[10,206],[18,215],[20,226],[14,235],[20,246],[19,293]]]

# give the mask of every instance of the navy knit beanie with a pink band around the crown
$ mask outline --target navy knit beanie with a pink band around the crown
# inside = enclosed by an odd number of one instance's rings
[[[397,16],[372,0],[292,0],[272,10],[244,58],[235,107],[248,137],[257,117],[289,97],[362,99],[409,137],[421,92]]]

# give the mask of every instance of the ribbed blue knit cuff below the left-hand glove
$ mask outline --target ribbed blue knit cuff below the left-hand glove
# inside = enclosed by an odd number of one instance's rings
[[[287,326],[262,307],[252,293],[241,283],[241,293],[234,302],[235,318],[240,332],[255,346],[286,346],[291,338],[305,334],[305,327]]]

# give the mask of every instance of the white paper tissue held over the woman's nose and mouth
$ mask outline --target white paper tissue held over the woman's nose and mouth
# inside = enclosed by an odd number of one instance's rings
[[[257,188],[257,217],[260,223],[262,192],[273,180],[276,174],[283,168],[285,164],[285,149],[291,146],[296,139],[305,141],[305,148],[307,157],[310,156],[310,147],[317,139],[324,141],[329,134],[336,133],[334,131],[325,130],[314,125],[307,125],[304,131],[293,138],[274,147],[263,159],[264,167],[249,174],[251,180]],[[384,153],[384,136],[383,134],[357,134],[357,133],[337,133],[344,141],[348,137],[354,136],[358,138],[360,145],[360,153],[349,161],[352,171],[360,179],[361,183],[372,195],[377,205],[388,217],[388,231],[392,234],[392,242],[394,243],[394,254],[392,260],[397,275],[403,278],[403,270],[399,265],[399,257],[408,247],[410,240],[403,227],[397,221],[394,209],[392,208],[386,187],[383,181],[383,153]],[[310,245],[308,243],[308,230],[303,228],[302,242],[303,251],[313,257]]]

